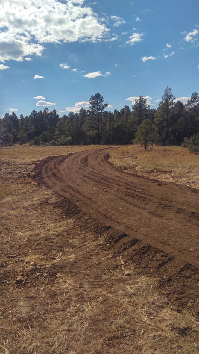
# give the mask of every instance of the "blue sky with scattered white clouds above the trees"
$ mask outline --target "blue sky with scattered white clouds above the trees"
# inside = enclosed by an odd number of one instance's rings
[[[0,116],[199,93],[198,0],[1,0]]]

